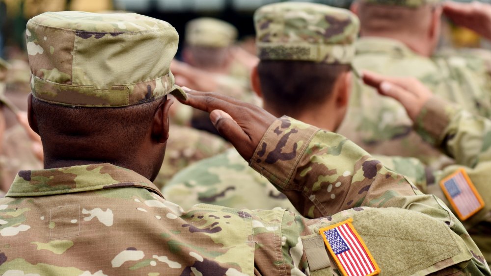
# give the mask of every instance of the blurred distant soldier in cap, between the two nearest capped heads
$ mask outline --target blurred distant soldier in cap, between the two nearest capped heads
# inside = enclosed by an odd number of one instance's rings
[[[258,104],[249,88],[249,70],[234,58],[236,39],[237,29],[227,22],[214,18],[188,22],[183,59],[191,67],[173,62],[176,83]],[[191,125],[218,134],[204,112],[193,110]]]

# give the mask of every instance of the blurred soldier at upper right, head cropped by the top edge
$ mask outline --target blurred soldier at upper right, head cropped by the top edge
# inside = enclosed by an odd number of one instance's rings
[[[490,114],[491,94],[465,59],[447,63],[430,58],[439,38],[438,0],[360,0],[352,10],[361,22],[356,68],[415,77],[444,99]],[[434,168],[453,162],[424,142],[411,124],[397,101],[355,83],[338,132],[371,153],[417,157]]]

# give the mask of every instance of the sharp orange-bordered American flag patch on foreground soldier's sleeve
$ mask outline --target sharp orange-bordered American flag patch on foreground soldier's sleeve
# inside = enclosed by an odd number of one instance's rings
[[[353,219],[319,229],[327,249],[344,276],[372,276],[380,268],[351,223]]]

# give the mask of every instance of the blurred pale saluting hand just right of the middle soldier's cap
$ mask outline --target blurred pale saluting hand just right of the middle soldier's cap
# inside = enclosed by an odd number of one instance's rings
[[[426,86],[413,77],[389,77],[363,71],[362,79],[365,84],[376,88],[380,94],[399,101],[412,121],[433,95]]]

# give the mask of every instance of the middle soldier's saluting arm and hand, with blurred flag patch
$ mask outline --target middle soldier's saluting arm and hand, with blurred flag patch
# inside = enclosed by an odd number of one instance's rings
[[[369,72],[364,74],[364,80],[378,88],[382,95],[401,102],[418,133],[455,158],[457,164],[434,172],[422,191],[434,194],[452,206],[489,264],[491,121],[432,97],[431,92],[417,80],[382,77]],[[458,188],[453,189],[455,187]],[[465,201],[462,201],[464,197]]]

